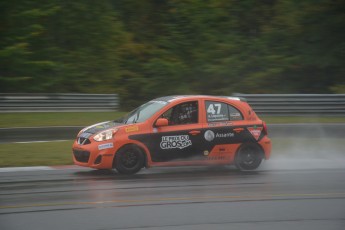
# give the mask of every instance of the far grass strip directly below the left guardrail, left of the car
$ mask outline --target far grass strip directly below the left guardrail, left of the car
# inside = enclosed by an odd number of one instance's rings
[[[0,128],[38,126],[87,126],[114,120],[125,112],[0,113]]]

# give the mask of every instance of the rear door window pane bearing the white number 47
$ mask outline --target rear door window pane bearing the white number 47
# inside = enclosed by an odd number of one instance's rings
[[[228,121],[228,105],[217,101],[206,101],[206,117],[208,122]]]

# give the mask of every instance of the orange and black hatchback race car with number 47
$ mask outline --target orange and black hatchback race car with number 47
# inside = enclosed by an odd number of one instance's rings
[[[73,144],[76,165],[116,168],[228,165],[254,170],[271,153],[265,122],[243,98],[168,96],[127,116],[82,129]]]

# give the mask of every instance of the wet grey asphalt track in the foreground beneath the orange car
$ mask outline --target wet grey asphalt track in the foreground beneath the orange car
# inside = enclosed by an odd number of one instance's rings
[[[345,229],[345,166],[0,173],[0,229]],[[291,163],[291,162],[290,162]],[[333,165],[333,164],[332,164]],[[334,165],[333,165],[334,166]]]

